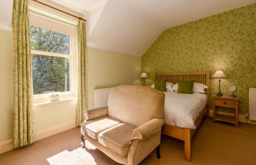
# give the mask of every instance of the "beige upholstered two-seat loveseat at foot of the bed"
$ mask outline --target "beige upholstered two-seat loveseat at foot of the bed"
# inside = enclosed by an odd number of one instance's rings
[[[160,158],[164,93],[146,86],[112,88],[108,106],[87,109],[84,138],[113,160],[138,164],[155,148]]]

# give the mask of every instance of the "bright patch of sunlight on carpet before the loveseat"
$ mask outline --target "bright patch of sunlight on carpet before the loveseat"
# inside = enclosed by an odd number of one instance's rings
[[[87,143],[87,148],[95,149],[94,146]],[[62,151],[52,157],[47,158],[51,165],[87,165],[97,164],[93,156],[84,148],[77,148],[73,151]]]

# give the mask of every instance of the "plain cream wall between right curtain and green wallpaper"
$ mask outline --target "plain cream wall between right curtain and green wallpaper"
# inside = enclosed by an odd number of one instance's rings
[[[93,107],[93,89],[120,84],[140,85],[141,58],[88,48],[88,107]]]

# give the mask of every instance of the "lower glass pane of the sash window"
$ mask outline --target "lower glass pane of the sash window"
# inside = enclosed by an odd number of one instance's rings
[[[70,67],[69,58],[32,55],[34,95],[70,91]]]

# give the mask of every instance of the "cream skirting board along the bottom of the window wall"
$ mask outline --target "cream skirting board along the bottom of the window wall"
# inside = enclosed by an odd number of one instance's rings
[[[76,127],[76,121],[72,121],[69,123],[64,123],[58,126],[54,126],[48,129],[44,129],[35,133],[35,141],[58,134],[63,131],[67,131],[69,129]],[[0,154],[13,150],[13,139],[6,140],[5,142],[0,142]]]

